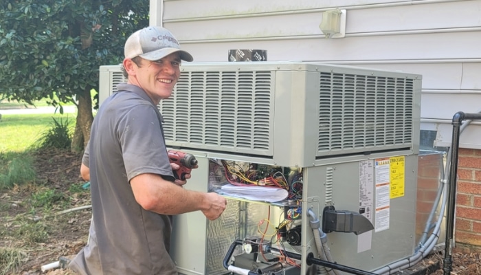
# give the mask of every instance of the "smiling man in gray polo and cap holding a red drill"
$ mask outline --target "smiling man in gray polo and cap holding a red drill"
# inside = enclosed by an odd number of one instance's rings
[[[227,201],[182,188],[170,164],[157,104],[172,94],[181,50],[166,29],[148,27],[125,43],[127,83],[100,107],[80,168],[91,182],[89,243],[69,267],[79,274],[177,274],[168,254],[172,217],[201,210],[217,219]],[[190,175],[186,176],[187,179]]]

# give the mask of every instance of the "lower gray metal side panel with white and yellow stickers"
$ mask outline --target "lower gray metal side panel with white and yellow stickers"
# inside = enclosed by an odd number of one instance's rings
[[[394,164],[399,157],[402,163]],[[337,263],[374,271],[414,254],[417,169],[418,155],[392,153],[304,169],[303,209],[311,208],[322,216],[326,206],[334,206],[336,210],[361,213],[374,225],[374,230],[359,235],[327,233]],[[397,188],[403,189],[398,195],[390,190],[396,184],[393,176],[399,179]],[[389,186],[385,185],[387,181]],[[304,227],[309,228],[309,220],[304,216],[303,220]],[[313,247],[311,232],[303,234],[306,248]]]

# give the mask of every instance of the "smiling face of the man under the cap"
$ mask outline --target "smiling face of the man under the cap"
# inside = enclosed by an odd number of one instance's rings
[[[133,63],[133,61],[130,61]],[[172,94],[180,76],[181,59],[175,52],[158,61],[142,59],[139,66],[133,64],[128,81],[144,89],[155,104]]]

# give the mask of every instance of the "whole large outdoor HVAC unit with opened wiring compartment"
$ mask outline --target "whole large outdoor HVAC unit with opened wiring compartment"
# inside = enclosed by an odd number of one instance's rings
[[[100,67],[100,104],[121,81],[119,66]],[[229,265],[306,274],[308,255],[319,254],[315,217],[339,264],[372,271],[413,254],[420,102],[416,74],[301,62],[183,63],[172,96],[159,104],[166,143],[199,161],[186,188],[220,192],[229,203],[216,221],[201,212],[176,217],[179,272],[228,273],[223,260],[237,240]],[[232,195],[223,188],[239,178],[227,176],[233,170],[282,174],[297,197]],[[267,233],[266,224],[274,225]],[[284,224],[287,232],[270,236]],[[275,270],[251,250],[267,241],[299,259]]]

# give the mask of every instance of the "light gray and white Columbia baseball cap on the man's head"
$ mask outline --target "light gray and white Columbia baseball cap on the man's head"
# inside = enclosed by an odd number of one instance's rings
[[[192,55],[180,49],[179,42],[166,28],[149,26],[128,36],[125,42],[125,58],[140,56],[156,61],[174,52],[180,53],[183,61],[193,61]]]

